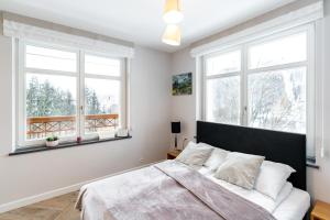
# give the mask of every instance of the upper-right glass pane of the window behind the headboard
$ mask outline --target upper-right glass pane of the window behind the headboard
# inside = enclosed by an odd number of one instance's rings
[[[307,33],[299,33],[249,48],[249,68],[304,62],[307,59]]]

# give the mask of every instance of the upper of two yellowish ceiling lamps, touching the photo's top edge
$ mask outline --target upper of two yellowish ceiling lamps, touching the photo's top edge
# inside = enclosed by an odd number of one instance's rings
[[[183,21],[180,0],[166,0],[163,19],[167,24],[177,24]]]

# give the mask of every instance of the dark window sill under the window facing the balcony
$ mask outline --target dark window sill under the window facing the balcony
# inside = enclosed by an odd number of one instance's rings
[[[132,139],[132,136],[117,136],[117,138],[101,139],[101,140],[86,140],[86,141],[82,141],[81,143],[67,142],[67,143],[61,143],[58,146],[54,146],[54,147],[47,147],[46,145],[29,146],[29,147],[24,147],[24,148],[16,148],[12,153],[10,153],[9,156],[30,154],[30,153],[36,153],[36,152],[43,152],[43,151],[52,151],[52,150],[58,150],[58,148],[77,147],[77,146],[82,146],[82,145],[87,145],[87,144],[98,144],[98,143],[110,142],[110,141],[120,141],[120,140],[125,140],[125,139]]]

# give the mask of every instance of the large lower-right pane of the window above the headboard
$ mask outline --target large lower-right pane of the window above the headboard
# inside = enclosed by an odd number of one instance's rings
[[[249,76],[249,125],[306,132],[306,67]]]

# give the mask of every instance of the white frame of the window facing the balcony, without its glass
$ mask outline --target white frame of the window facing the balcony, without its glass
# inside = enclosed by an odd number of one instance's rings
[[[45,48],[54,48],[65,52],[73,52],[76,54],[76,72],[64,72],[64,70],[50,70],[50,69],[40,69],[40,68],[29,68],[25,65],[25,47],[26,45],[31,46],[41,46]],[[29,147],[34,145],[40,145],[45,142],[45,139],[37,140],[26,140],[26,73],[40,73],[43,75],[53,75],[53,76],[72,76],[76,77],[77,86],[77,102],[76,102],[76,134],[70,136],[63,136],[61,141],[75,141],[77,136],[82,136],[82,139],[88,139],[94,136],[92,134],[85,133],[85,78],[98,78],[98,79],[114,79],[120,81],[120,110],[119,110],[119,127],[118,128],[128,128],[128,73],[129,73],[129,58],[121,56],[113,56],[112,53],[100,53],[88,50],[80,50],[74,47],[67,47],[62,45],[54,45],[48,43],[42,43],[36,41],[28,40],[15,40],[16,46],[16,95],[15,95],[15,106],[16,106],[16,146]],[[114,58],[120,61],[120,76],[106,76],[97,74],[85,74],[85,54],[95,55],[99,57]]]

